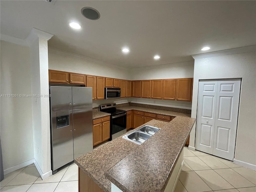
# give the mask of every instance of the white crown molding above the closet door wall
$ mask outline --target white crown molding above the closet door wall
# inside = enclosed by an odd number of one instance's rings
[[[202,59],[202,58],[208,58],[208,57],[216,57],[216,56],[230,55],[230,54],[237,54],[237,53],[244,53],[244,52],[252,52],[252,51],[256,51],[256,45],[215,51],[215,52],[209,52],[209,53],[196,54],[196,55],[192,55],[192,57],[194,59]]]

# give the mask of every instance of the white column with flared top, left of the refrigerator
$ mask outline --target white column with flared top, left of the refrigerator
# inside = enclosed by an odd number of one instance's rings
[[[35,165],[42,179],[52,175],[50,149],[50,106],[48,82],[48,40],[52,38],[33,28],[27,37],[31,58],[31,90]]]

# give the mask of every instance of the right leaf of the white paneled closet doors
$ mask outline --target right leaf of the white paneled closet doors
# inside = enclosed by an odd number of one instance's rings
[[[241,80],[218,81],[213,155],[234,160]]]

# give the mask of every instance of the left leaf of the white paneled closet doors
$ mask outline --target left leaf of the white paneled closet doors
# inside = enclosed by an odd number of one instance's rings
[[[196,119],[196,150],[213,152],[218,81],[200,81]]]

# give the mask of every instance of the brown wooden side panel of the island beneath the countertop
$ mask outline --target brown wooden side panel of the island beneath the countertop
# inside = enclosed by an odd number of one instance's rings
[[[104,192],[82,169],[78,167],[78,192]]]

